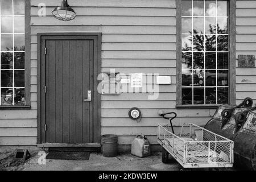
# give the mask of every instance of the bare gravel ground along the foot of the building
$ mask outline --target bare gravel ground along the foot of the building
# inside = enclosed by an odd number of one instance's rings
[[[41,165],[38,163],[39,158],[38,153],[34,152],[26,162],[15,162],[13,155],[10,155],[0,160],[0,171],[180,171],[182,169],[176,160],[170,159],[168,164],[162,163],[161,152],[146,158],[138,158],[131,154],[105,158],[102,154],[91,153],[89,160],[46,160],[46,164]]]

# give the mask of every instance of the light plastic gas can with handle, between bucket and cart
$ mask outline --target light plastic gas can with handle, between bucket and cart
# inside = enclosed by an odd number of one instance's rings
[[[137,135],[131,143],[131,154],[144,158],[150,155],[150,142],[144,135]]]

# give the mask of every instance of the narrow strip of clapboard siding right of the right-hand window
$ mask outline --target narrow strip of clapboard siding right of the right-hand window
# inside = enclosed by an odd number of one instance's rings
[[[256,1],[237,1],[238,55],[256,55]],[[256,100],[256,68],[238,68],[236,77],[237,104],[245,97]]]

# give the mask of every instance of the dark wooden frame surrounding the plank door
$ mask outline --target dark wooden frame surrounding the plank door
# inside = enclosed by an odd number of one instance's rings
[[[44,48],[46,40],[94,40],[93,44],[93,143],[84,144],[51,144],[46,143],[45,116],[45,61]],[[101,94],[97,87],[100,83],[98,75],[101,73],[101,32],[38,32],[38,147],[92,147],[101,143]],[[44,108],[44,109],[43,109]]]

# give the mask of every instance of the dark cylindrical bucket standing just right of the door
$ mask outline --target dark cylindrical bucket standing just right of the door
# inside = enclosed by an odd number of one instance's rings
[[[117,135],[102,135],[102,154],[106,158],[113,158],[117,156]]]

